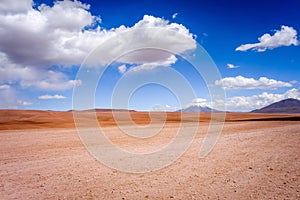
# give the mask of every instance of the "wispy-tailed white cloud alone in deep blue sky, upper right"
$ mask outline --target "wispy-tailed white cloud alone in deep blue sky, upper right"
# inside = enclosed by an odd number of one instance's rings
[[[281,46],[299,45],[297,31],[293,27],[281,26],[281,30],[276,30],[274,35],[268,33],[258,38],[259,42],[254,44],[243,44],[237,47],[236,51],[247,51],[249,49],[264,52],[267,49],[274,49]]]

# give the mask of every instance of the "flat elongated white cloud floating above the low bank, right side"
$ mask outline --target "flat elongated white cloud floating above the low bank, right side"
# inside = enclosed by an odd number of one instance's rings
[[[254,78],[245,78],[243,76],[226,77],[215,81],[216,85],[222,86],[224,89],[276,89],[279,87],[291,87],[291,83],[277,81],[266,77],[260,77],[258,80]]]

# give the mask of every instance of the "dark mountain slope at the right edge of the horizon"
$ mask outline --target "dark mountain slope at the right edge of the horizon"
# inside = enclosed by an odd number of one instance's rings
[[[300,101],[297,99],[285,99],[261,109],[251,111],[253,113],[300,113]]]

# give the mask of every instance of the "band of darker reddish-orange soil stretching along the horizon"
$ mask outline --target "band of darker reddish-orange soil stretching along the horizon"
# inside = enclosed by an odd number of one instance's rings
[[[88,112],[88,111],[86,111]],[[115,111],[98,109],[96,112],[98,122],[101,126],[115,126],[114,114],[118,115],[121,124],[130,124],[126,111]],[[149,124],[151,122],[148,112],[129,111],[130,117],[136,124]],[[163,116],[166,115],[166,119]],[[235,121],[300,121],[300,114],[257,114],[257,113],[220,113],[225,115],[226,122]],[[153,123],[180,123],[180,122],[209,122],[210,113],[151,113]],[[16,129],[45,129],[45,128],[74,128],[72,111],[39,111],[39,110],[0,110],[0,130]]]

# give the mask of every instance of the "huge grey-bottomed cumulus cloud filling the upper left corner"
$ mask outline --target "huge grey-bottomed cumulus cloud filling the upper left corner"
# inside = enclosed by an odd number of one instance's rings
[[[2,2],[8,4],[7,12],[13,8],[9,4],[18,4],[8,2],[15,1]],[[0,12],[0,51],[13,63],[78,64],[90,50],[86,45],[93,46],[99,41],[93,37],[94,43],[85,44],[95,31],[82,30],[99,20],[88,12],[88,5],[79,1],[56,1],[52,7],[42,4],[37,9],[25,8],[26,12]]]

